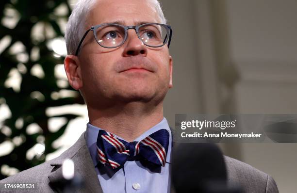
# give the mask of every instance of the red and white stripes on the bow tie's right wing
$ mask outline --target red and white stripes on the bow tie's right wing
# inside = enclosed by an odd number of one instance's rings
[[[165,148],[159,142],[148,136],[145,139],[143,139],[140,143],[149,146],[155,152],[162,166],[165,166],[166,151]]]

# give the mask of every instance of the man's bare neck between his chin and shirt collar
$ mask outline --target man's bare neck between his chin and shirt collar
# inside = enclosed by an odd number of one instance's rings
[[[130,102],[107,109],[88,107],[88,114],[92,125],[132,142],[163,119],[163,103],[154,106]]]

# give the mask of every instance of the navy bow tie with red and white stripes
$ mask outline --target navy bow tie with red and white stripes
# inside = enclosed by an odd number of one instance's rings
[[[97,153],[99,161],[116,169],[135,156],[157,165],[165,166],[169,145],[169,132],[160,129],[150,134],[140,142],[127,142],[118,139],[115,135],[105,130],[99,130],[97,138]]]

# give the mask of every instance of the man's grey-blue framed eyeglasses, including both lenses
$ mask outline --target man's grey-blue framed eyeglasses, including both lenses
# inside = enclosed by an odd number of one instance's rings
[[[114,23],[92,26],[82,36],[75,55],[78,55],[82,42],[89,31],[94,32],[96,42],[103,48],[116,48],[124,44],[128,36],[128,30],[134,29],[138,38],[148,47],[158,48],[167,42],[169,48],[172,29],[171,26],[161,23],[145,23],[139,26],[122,26]]]

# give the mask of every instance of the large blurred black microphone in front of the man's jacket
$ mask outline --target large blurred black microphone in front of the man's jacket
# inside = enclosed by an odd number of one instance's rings
[[[176,193],[240,193],[227,186],[222,152],[215,144],[180,144],[172,157]]]

